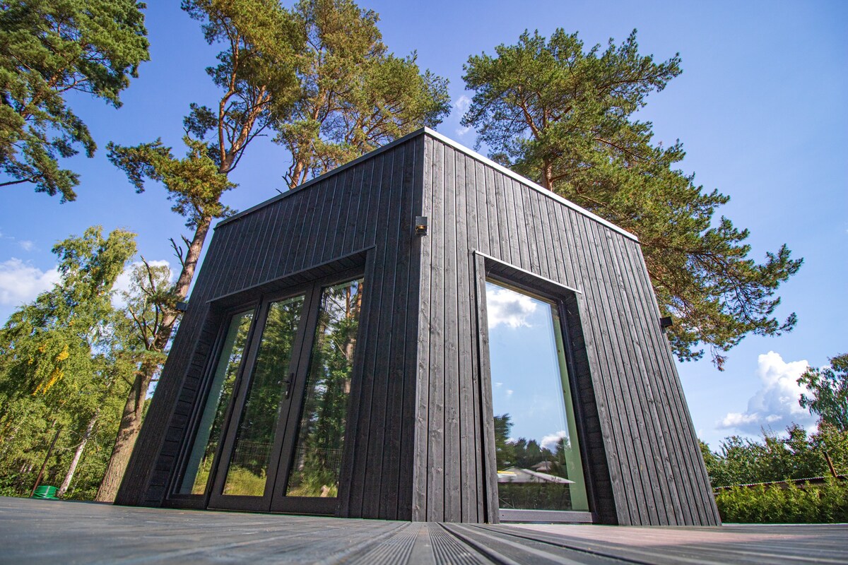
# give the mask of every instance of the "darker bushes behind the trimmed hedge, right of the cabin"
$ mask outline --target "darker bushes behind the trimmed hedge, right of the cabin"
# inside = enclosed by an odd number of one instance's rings
[[[807,435],[797,424],[787,436],[763,432],[762,440],[731,436],[717,452],[701,444],[701,453],[713,487],[766,483],[784,479],[810,479],[830,474],[825,452],[837,473],[848,474],[848,433],[822,424]]]

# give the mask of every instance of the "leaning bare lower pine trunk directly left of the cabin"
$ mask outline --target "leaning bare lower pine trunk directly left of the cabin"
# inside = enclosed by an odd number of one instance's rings
[[[176,280],[174,294],[176,300],[183,301],[188,296],[188,288],[192,285],[194,271],[198,266],[200,252],[204,248],[206,234],[209,233],[209,225],[212,218],[207,216],[198,222],[197,230],[194,232],[192,243],[188,246],[186,260],[182,265],[179,279]],[[170,333],[176,324],[176,311],[165,313],[162,324],[149,346],[149,351],[163,352],[170,341]],[[153,376],[159,370],[159,363],[147,360],[142,363],[132,382],[130,394],[124,405],[124,412],[120,418],[118,437],[114,441],[112,456],[109,457],[109,466],[103,475],[103,481],[98,488],[98,496],[95,498],[101,502],[113,502],[118,494],[120,481],[124,477],[127,463],[130,463],[132,448],[136,445],[138,432],[142,429],[142,417],[144,415],[144,399],[147,396],[148,387],[153,381]]]

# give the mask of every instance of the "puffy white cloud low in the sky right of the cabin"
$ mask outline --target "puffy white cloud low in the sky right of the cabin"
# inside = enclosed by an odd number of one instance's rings
[[[718,423],[719,429],[734,428],[757,435],[760,429],[783,431],[789,424],[812,425],[816,418],[798,403],[806,388],[798,377],[806,370],[806,360],[785,362],[778,353],[767,352],[757,358],[757,377],[762,385],[748,401],[745,412],[730,412]]]

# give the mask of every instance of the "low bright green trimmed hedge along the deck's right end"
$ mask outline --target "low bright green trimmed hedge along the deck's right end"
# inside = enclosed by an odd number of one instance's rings
[[[848,522],[848,481],[828,477],[824,485],[734,487],[716,495],[725,523]]]

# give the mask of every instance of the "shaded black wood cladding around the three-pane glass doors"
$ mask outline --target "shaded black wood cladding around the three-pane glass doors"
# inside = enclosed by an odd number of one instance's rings
[[[179,479],[176,466],[192,439],[192,412],[204,400],[223,322],[216,305],[248,303],[261,292],[360,265],[366,271],[355,369],[361,378],[351,391],[340,514],[410,518],[414,411],[408,399],[415,392],[420,268],[412,221],[424,139],[410,136],[218,224],[118,503],[160,506]],[[406,488],[399,486],[402,477]]]

